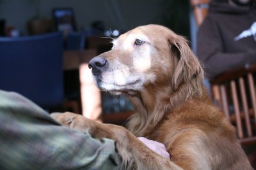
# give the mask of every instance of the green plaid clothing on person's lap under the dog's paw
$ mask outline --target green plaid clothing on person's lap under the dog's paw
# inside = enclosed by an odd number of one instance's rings
[[[111,139],[68,129],[14,92],[0,90],[0,169],[118,169]]]

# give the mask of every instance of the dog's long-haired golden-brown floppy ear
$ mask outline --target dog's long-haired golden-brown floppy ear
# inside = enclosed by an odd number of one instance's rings
[[[174,35],[169,39],[171,46],[171,55],[175,58],[174,73],[172,77],[173,91],[180,88],[182,83],[190,86],[188,93],[202,94],[202,80],[204,79],[204,70],[200,66],[200,62],[192,52],[188,45],[188,41],[182,36]]]

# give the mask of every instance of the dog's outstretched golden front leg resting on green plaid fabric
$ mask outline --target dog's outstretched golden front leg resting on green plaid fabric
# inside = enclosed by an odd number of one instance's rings
[[[52,117],[67,127],[92,134],[93,138],[113,139],[122,159],[122,169],[181,169],[170,160],[150,150],[122,126],[100,124],[74,113],[54,113]]]

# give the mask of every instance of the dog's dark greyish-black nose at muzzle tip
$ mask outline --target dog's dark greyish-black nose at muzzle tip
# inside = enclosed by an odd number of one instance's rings
[[[92,68],[93,74],[100,74],[104,69],[106,69],[108,60],[103,57],[94,57],[90,60],[88,67]]]

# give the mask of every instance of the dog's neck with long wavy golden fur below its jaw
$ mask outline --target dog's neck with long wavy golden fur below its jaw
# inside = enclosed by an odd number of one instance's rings
[[[127,122],[127,128],[136,136],[146,136],[152,133],[153,129],[166,117],[172,114],[175,108],[182,106],[188,99],[204,97],[206,91],[204,86],[198,92],[188,92],[188,84],[184,83],[178,89],[173,90],[170,86],[147,87],[136,96],[131,97],[136,114],[132,115]],[[203,95],[201,96],[200,94]]]

